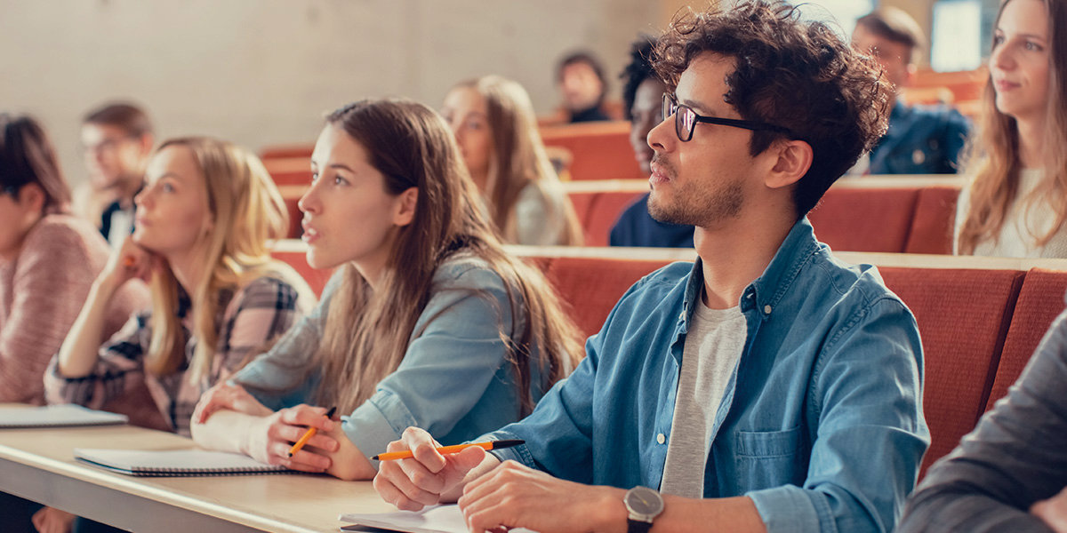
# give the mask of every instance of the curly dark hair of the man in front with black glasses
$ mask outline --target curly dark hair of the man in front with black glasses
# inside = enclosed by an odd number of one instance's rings
[[[736,60],[724,101],[743,118],[785,128],[811,145],[811,168],[793,188],[798,219],[886,132],[889,82],[877,63],[780,0],[681,12],[656,43],[652,66],[674,91],[704,52]],[[761,154],[782,136],[754,131],[749,151]]]

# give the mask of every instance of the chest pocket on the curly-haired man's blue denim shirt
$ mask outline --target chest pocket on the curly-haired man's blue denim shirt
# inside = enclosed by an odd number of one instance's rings
[[[782,431],[737,431],[737,481],[748,490],[802,483],[808,469],[802,436],[799,425]]]

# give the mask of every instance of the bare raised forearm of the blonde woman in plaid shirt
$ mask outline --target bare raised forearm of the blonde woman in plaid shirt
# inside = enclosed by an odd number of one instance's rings
[[[117,285],[110,278],[98,278],[89,291],[85,305],[60,348],[59,371],[65,377],[83,377],[96,366],[108,304]]]

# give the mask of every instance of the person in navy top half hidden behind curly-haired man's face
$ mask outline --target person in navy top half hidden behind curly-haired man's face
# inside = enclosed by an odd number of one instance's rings
[[[643,37],[630,50],[630,64],[622,71],[622,101],[630,120],[630,144],[646,175],[652,174],[649,132],[663,120],[660,107],[667,86],[652,68],[655,41]],[[619,214],[608,239],[611,246],[691,248],[692,226],[657,221],[649,214],[649,195],[643,194]]]

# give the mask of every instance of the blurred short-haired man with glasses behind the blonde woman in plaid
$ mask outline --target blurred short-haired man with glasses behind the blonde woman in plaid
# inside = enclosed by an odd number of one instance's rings
[[[75,211],[97,222],[112,245],[133,231],[133,196],[141,191],[155,138],[148,115],[130,103],[108,103],[82,120],[89,183],[75,191]]]

